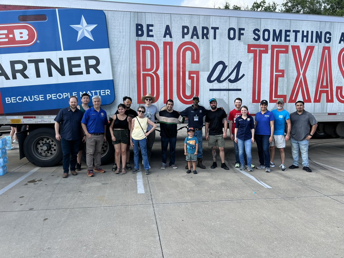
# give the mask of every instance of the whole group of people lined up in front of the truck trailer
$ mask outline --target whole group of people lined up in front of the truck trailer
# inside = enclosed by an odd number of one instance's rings
[[[187,120],[187,137],[184,141],[184,154],[187,164],[187,173],[197,174],[196,167],[205,169],[203,162],[203,118],[205,118],[205,139],[212,149],[212,169],[217,167],[217,147],[221,159],[221,168],[229,170],[225,163],[225,139],[227,137],[227,114],[221,107],[217,107],[217,100],[209,100],[210,109],[199,105],[200,99],[195,96],[193,104],[183,111],[173,110],[173,100],[166,101],[160,111],[153,105],[155,97],[151,94],[142,96],[137,111],[131,109],[132,99],[123,97],[123,103],[118,105],[116,113],[108,121],[107,114],[100,107],[101,97],[93,96],[93,106],[88,106],[90,96],[84,93],[81,96],[82,104],[78,105],[76,96],[69,98],[69,107],[60,110],[55,118],[56,139],[61,140],[63,151],[63,178],[67,178],[69,170],[72,175],[81,170],[82,150],[86,142],[86,164],[87,175],[94,176],[94,172],[104,173],[101,169],[101,148],[106,141],[106,127],[109,125],[112,144],[115,148],[115,163],[112,171],[116,174],[126,174],[127,170],[132,173],[139,171],[139,149],[142,155],[142,164],[146,174],[150,174],[150,159],[152,147],[155,141],[155,120],[160,122],[162,165],[167,166],[167,149],[170,148],[169,166],[177,169],[175,165],[175,148],[177,137],[177,125]],[[262,100],[261,111],[255,119],[249,114],[247,106],[241,106],[242,100],[236,98],[235,108],[229,113],[229,133],[234,141],[235,167],[240,170],[253,171],[255,166],[252,162],[251,147],[257,142],[259,163],[257,169],[265,168],[270,172],[273,163],[275,147],[280,150],[282,171],[286,170],[284,165],[285,142],[291,139],[293,164],[290,169],[298,168],[298,153],[301,149],[302,165],[305,171],[311,172],[308,165],[308,140],[316,129],[316,120],[309,112],[303,110],[304,103],[295,103],[297,111],[290,114],[283,109],[284,101],[277,101],[277,109],[270,112],[267,109],[268,102]],[[302,116],[301,116],[302,115]],[[312,118],[313,117],[313,118]],[[255,121],[254,121],[255,120]],[[284,136],[284,127],[287,125],[287,135]],[[310,132],[310,125],[312,130]],[[307,135],[301,137],[306,131]],[[61,132],[60,132],[61,131]],[[301,139],[302,138],[302,139]],[[306,142],[307,143],[306,143]],[[134,149],[134,168],[131,168],[130,146]],[[306,157],[307,156],[307,157]],[[93,161],[94,160],[94,161]],[[196,164],[197,161],[197,164]],[[120,163],[122,167],[120,168]],[[192,168],[191,168],[192,166]]]

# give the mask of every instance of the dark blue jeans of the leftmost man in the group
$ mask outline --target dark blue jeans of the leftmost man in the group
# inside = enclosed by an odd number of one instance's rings
[[[62,167],[63,173],[69,172],[69,164],[71,165],[71,171],[75,171],[76,157],[79,152],[80,139],[78,140],[66,140],[61,138],[62,147]]]

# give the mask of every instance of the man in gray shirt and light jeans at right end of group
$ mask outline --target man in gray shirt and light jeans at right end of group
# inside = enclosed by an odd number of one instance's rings
[[[308,143],[312,138],[313,133],[318,126],[315,117],[304,110],[304,102],[298,100],[295,103],[296,111],[290,114],[291,131],[290,144],[291,154],[293,156],[293,164],[289,166],[290,169],[299,168],[299,149],[301,151],[303,170],[312,172],[308,163]],[[312,130],[310,131],[310,126]]]

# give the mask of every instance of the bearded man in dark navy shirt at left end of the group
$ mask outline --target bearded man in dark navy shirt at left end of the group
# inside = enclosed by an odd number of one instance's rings
[[[77,109],[78,99],[75,96],[69,98],[69,107],[61,109],[55,117],[55,138],[61,141],[62,146],[62,178],[68,177],[69,164],[72,175],[77,175],[75,170],[79,143],[82,137],[81,120],[84,113]],[[61,134],[59,133],[61,125]]]

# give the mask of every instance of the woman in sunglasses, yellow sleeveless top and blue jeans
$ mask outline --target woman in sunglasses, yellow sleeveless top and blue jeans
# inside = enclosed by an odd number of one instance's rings
[[[141,149],[143,167],[146,170],[146,175],[150,174],[150,167],[148,162],[147,155],[147,140],[146,138],[154,132],[157,125],[154,122],[144,116],[146,108],[144,106],[139,106],[137,109],[138,116],[131,120],[131,129],[130,129],[130,145],[134,147],[134,169],[132,173],[137,173],[139,171],[139,146]],[[148,125],[151,126],[151,129],[147,131]]]

